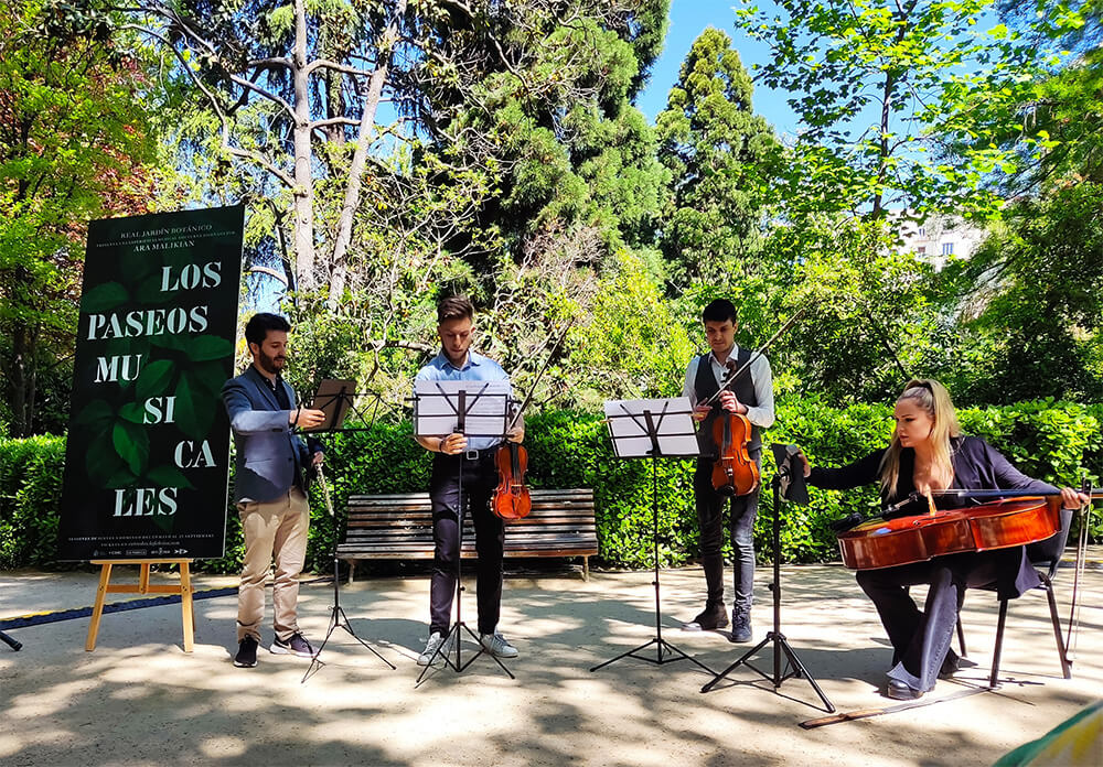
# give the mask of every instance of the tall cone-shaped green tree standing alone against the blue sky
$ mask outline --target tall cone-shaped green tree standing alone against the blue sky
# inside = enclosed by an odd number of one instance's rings
[[[660,160],[671,172],[661,244],[679,283],[747,276],[760,246],[763,203],[778,142],[751,107],[753,86],[731,39],[705,30],[656,118]]]

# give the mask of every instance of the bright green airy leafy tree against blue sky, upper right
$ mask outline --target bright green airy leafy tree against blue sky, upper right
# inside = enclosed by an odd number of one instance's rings
[[[983,136],[944,159],[978,99],[1041,61],[1004,25],[985,30],[993,0],[780,0],[738,24],[770,45],[758,79],[789,91],[801,119],[788,176],[790,215],[843,212],[872,218],[891,207],[919,215],[990,215],[988,174],[1014,160]],[[985,133],[990,136],[989,132]]]

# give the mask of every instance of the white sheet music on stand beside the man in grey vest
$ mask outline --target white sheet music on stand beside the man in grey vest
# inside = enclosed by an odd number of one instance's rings
[[[606,422],[618,458],[693,457],[700,454],[688,397],[607,400]],[[654,452],[656,446],[657,453]]]

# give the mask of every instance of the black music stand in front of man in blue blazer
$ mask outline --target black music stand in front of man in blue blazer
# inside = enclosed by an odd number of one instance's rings
[[[356,413],[357,417],[363,421],[363,414],[356,410],[355,401],[357,397],[374,397],[375,406],[372,413],[372,422],[375,421],[375,412],[379,407],[379,396],[373,392],[360,392],[355,393],[355,384],[352,381],[332,380],[326,379],[318,385],[318,391],[311,398],[310,407],[314,410],[321,410],[325,413],[325,420],[318,426],[313,429],[304,429],[303,431],[310,434],[318,433],[340,433],[340,432],[353,432],[353,431],[367,431],[371,425],[366,428],[344,428],[345,415],[350,412]],[[330,487],[325,482],[325,472],[322,471],[321,466],[314,468],[318,475],[318,479],[322,485],[322,496],[325,498],[325,509],[330,514],[330,520],[333,523],[333,607],[330,609],[330,627],[325,631],[325,638],[322,639],[322,644],[319,645],[318,651],[310,659],[310,666],[307,668],[307,672],[302,674],[301,683],[304,683],[310,677],[321,670],[324,662],[321,660],[322,650],[325,649],[326,642],[329,642],[330,637],[333,635],[338,628],[343,628],[347,631],[353,639],[358,641],[361,645],[370,649],[375,657],[382,660],[384,663],[389,666],[392,670],[397,667],[389,660],[379,655],[379,651],[367,644],[364,639],[356,635],[353,630],[352,624],[349,623],[349,616],[345,615],[344,608],[341,606],[341,572],[339,570],[341,560],[338,559],[338,541],[340,541],[344,536],[340,534],[338,530],[336,515],[333,514],[333,501],[330,499]]]

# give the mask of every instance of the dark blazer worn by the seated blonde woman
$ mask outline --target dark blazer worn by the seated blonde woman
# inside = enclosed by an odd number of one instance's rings
[[[950,440],[950,463],[954,467],[954,478],[951,483],[951,488],[968,490],[1057,491],[1057,488],[1052,485],[1039,479],[1032,479],[1022,474],[995,447],[978,436],[953,437]],[[840,468],[813,468],[807,482],[815,487],[832,490],[845,490],[879,482],[881,458],[885,456],[886,450],[875,451],[866,457],[859,458],[853,464]],[[886,497],[882,491],[882,506],[901,500],[915,489],[912,483],[914,466],[915,451],[911,447],[900,451],[900,476],[897,479],[896,493],[891,497]],[[950,508],[952,506],[947,503],[946,507]],[[1038,572],[1030,566],[1026,547],[999,549],[986,553],[999,560],[999,577],[996,581],[996,586],[1000,596],[1008,598],[1016,597],[1040,583]],[[953,557],[974,555],[953,554]]]

